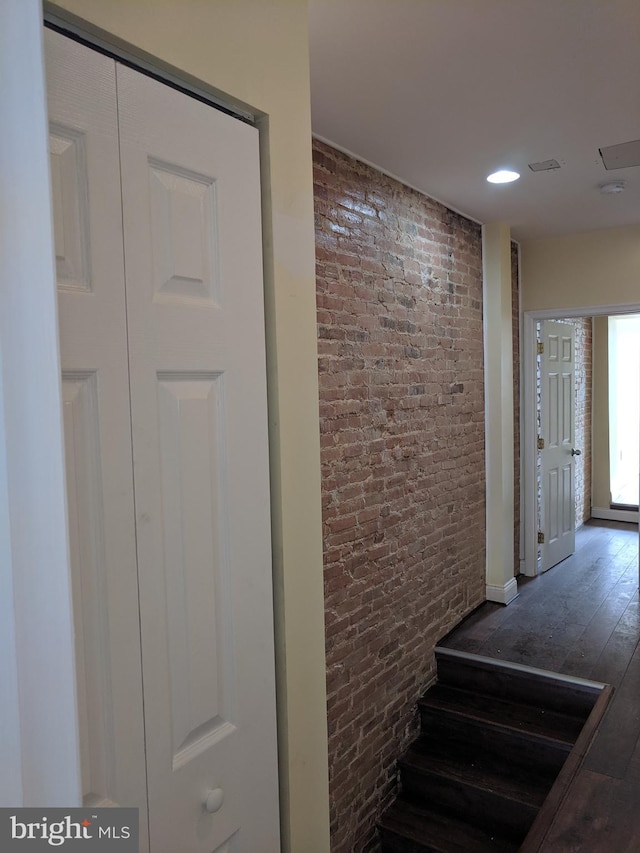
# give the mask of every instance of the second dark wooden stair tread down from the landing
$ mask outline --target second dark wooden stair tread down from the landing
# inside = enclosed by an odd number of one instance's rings
[[[414,741],[400,767],[463,782],[534,809],[544,802],[556,775],[503,760],[482,748],[465,748],[428,735]]]

